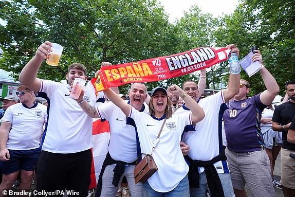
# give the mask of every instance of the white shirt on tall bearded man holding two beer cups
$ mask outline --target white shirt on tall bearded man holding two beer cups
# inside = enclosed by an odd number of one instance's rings
[[[52,153],[77,153],[93,147],[93,118],[83,112],[77,101],[69,97],[70,86],[41,80],[39,96],[48,101],[48,122],[42,136],[42,150]],[[91,105],[87,92],[84,99]]]

